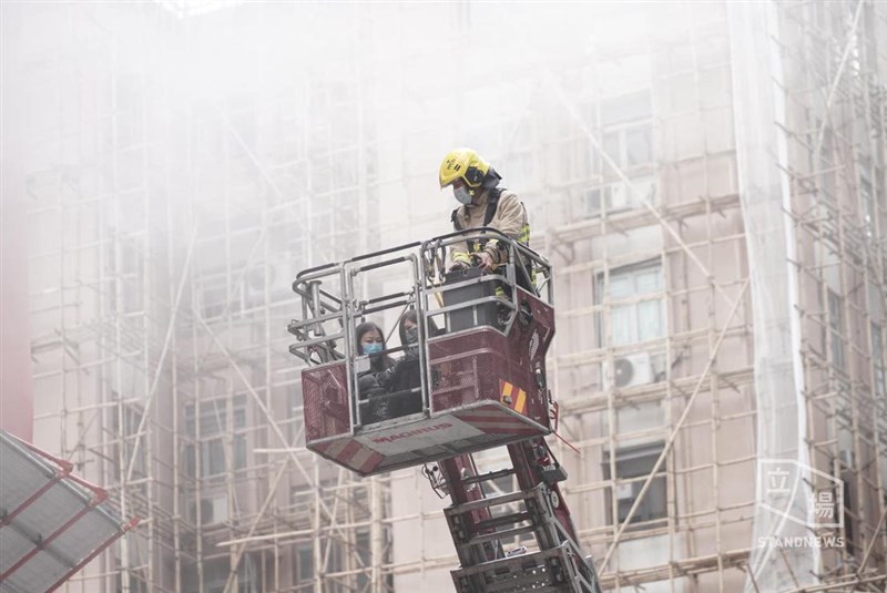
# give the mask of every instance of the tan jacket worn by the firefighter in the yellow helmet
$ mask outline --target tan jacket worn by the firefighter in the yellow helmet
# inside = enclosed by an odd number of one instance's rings
[[[502,190],[502,193],[499,195],[496,215],[489,224],[483,224],[483,219],[487,216],[487,198],[489,193],[489,190],[485,190],[483,193],[480,194],[480,200],[477,205],[470,204],[456,209],[452,218],[456,229],[489,226],[529,247],[530,223],[527,218],[527,208],[523,207],[523,203],[518,200],[517,194],[513,192]],[[495,238],[490,238],[486,242],[472,241],[471,243],[472,245],[470,247],[466,242],[455,244],[450,251],[450,259],[453,263],[470,265],[471,257],[469,254],[471,252],[478,253],[481,249],[490,254],[493,264],[497,266],[504,263],[508,257],[508,252],[500,249],[498,241]]]

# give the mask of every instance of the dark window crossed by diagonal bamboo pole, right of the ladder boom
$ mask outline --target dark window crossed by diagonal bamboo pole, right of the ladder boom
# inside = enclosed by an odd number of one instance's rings
[[[623,523],[629,517],[641,489],[646,481],[646,477],[653,471],[653,467],[662,453],[664,446],[661,442],[623,447],[616,450],[615,459],[615,483],[608,490],[606,495],[606,518],[610,524],[613,521],[613,497],[616,504],[616,523]],[[611,479],[610,452],[603,454],[604,479]],[[650,488],[641,501],[638,510],[631,518],[630,523],[644,523],[664,519],[667,514],[667,491],[665,482],[665,463],[653,478]],[[649,525],[648,525],[649,526]]]

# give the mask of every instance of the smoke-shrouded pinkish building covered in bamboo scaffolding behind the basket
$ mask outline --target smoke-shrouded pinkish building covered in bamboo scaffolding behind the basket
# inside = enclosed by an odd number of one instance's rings
[[[304,449],[286,325],[299,269],[449,231],[456,145],[554,265],[605,586],[884,586],[884,6],[2,10],[34,442],[143,519],[69,591],[452,590],[418,469]]]

